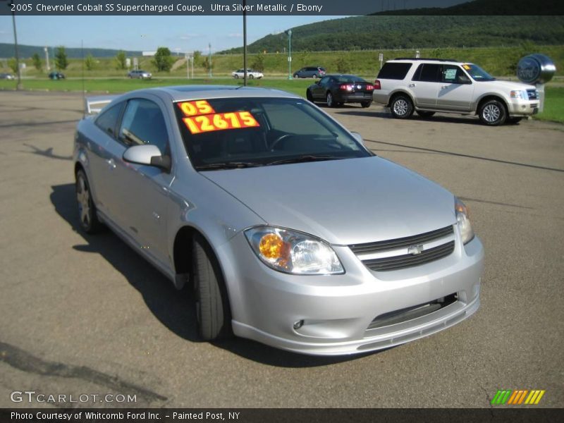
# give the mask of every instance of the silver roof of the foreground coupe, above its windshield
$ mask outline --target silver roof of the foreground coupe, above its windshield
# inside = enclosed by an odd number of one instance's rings
[[[159,96],[167,96],[172,99],[173,102],[191,99],[221,99],[230,97],[302,98],[298,94],[292,94],[274,88],[243,87],[241,85],[176,85],[172,87],[148,88],[135,92],[147,92]]]

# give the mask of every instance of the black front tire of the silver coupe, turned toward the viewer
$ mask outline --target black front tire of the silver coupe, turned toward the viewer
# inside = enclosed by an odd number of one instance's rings
[[[195,235],[192,245],[192,277],[200,338],[214,341],[230,337],[233,331],[225,283],[212,248],[201,235]]]

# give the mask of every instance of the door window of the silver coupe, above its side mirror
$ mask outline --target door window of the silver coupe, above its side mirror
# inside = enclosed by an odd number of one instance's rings
[[[121,120],[119,137],[128,145],[152,144],[168,154],[168,134],[164,116],[157,104],[145,99],[128,102]]]

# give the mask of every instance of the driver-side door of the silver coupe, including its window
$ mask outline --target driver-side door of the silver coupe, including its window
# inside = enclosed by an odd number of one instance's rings
[[[133,145],[152,144],[163,155],[170,155],[169,125],[159,99],[130,99],[121,119],[120,142],[113,152],[116,224],[145,254],[164,267],[168,267],[166,210],[173,175],[155,166],[124,161],[123,152]]]

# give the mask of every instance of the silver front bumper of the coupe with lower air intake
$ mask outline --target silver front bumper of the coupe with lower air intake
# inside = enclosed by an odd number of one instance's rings
[[[348,247],[333,246],[346,272],[333,276],[269,269],[239,233],[218,251],[233,332],[296,353],[344,355],[390,348],[453,326],[478,309],[484,271],[480,240],[462,246],[455,233],[455,251],[448,257],[397,271],[371,271]],[[449,295],[456,300],[435,312],[369,329],[383,314]]]

